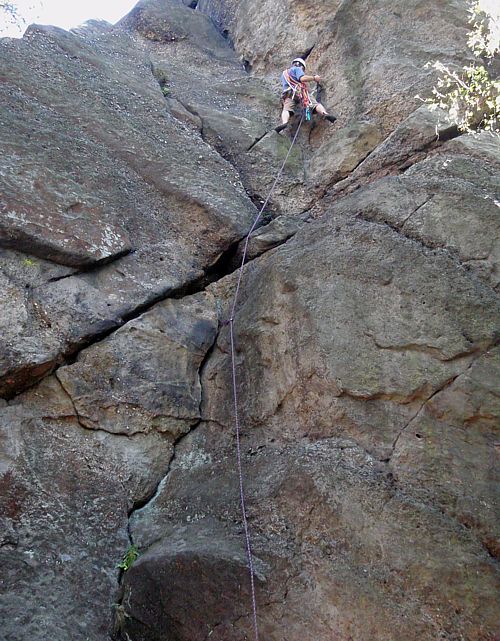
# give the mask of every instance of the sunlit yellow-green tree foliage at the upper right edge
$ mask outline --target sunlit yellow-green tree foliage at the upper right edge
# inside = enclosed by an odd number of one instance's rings
[[[480,2],[469,9],[471,30],[467,45],[475,58],[462,68],[436,60],[428,63],[437,72],[432,97],[424,100],[431,109],[448,113],[460,131],[485,129],[500,133],[500,41],[498,19],[483,11]]]

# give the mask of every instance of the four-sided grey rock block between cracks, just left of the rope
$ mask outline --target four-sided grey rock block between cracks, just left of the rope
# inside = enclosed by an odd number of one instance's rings
[[[216,332],[209,294],[167,300],[84,350],[57,378],[85,427],[177,438],[200,419],[199,370]]]

